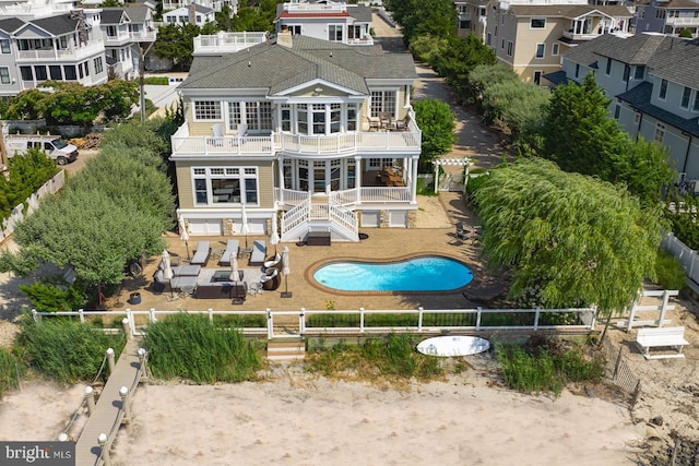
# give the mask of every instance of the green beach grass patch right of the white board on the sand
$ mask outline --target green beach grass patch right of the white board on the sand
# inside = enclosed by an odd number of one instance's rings
[[[605,360],[580,344],[531,338],[526,345],[495,343],[505,382],[525,393],[559,395],[570,382],[599,383]]]

